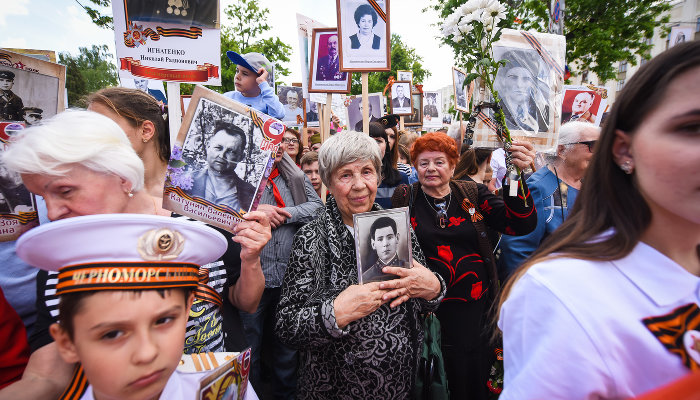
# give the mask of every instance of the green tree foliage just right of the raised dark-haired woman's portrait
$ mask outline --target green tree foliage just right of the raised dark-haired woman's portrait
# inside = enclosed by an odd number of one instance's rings
[[[394,33],[391,35],[391,71],[370,72],[368,75],[369,93],[381,92],[389,81],[389,77],[396,79],[398,70],[413,71],[413,84],[421,84],[423,80],[430,76],[430,71],[423,68],[423,57],[416,53],[416,50],[401,40],[401,36]],[[352,94],[362,94],[362,74],[352,75]]]

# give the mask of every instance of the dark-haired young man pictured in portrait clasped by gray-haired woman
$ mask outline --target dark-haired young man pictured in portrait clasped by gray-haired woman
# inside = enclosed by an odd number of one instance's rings
[[[408,267],[408,262],[399,258],[398,245],[400,233],[396,229],[396,221],[391,217],[379,217],[369,229],[369,242],[377,254],[377,261],[362,271],[362,283],[387,281],[396,278],[386,274],[382,268]],[[365,266],[367,267],[367,266]]]

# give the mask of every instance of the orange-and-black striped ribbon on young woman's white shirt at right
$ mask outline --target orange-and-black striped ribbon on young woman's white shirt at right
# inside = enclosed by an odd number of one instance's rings
[[[697,304],[686,304],[666,315],[644,318],[642,322],[666,350],[681,358],[683,365],[691,371],[700,370],[700,364],[690,357],[683,343],[687,331],[700,330],[700,308]]]

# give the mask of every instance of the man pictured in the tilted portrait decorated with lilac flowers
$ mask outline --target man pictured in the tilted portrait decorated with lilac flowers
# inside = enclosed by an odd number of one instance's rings
[[[255,187],[236,173],[238,163],[245,158],[247,142],[241,128],[217,122],[205,147],[207,167],[194,174],[192,188],[185,193],[237,211],[248,211]]]

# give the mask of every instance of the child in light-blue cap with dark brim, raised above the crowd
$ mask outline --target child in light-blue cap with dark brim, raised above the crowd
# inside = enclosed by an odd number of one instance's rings
[[[284,118],[284,106],[270,86],[268,71],[270,61],[260,53],[238,54],[227,51],[228,58],[236,64],[236,90],[224,96],[252,107],[279,120]]]

